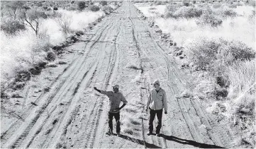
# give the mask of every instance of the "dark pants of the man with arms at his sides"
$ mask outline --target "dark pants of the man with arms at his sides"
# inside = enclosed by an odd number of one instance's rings
[[[159,109],[159,110],[150,109],[150,121],[148,123],[148,125],[149,125],[148,129],[149,129],[150,133],[152,133],[153,121],[155,119],[155,114],[157,114],[157,130],[155,131],[155,133],[160,133],[160,129],[162,126],[162,109]]]

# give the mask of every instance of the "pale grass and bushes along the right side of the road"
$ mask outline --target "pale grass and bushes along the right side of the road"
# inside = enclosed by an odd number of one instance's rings
[[[188,90],[209,105],[216,121],[229,121],[239,136],[233,146],[240,148],[255,148],[255,5],[250,3],[171,2],[160,17],[135,5],[153,18],[150,28],[159,28],[161,40],[168,35],[169,54],[193,76]]]

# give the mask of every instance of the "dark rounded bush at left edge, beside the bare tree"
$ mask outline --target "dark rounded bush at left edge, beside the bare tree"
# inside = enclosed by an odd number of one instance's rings
[[[6,23],[1,24],[1,30],[7,34],[15,35],[20,30],[26,30],[26,27],[18,20],[8,20]]]

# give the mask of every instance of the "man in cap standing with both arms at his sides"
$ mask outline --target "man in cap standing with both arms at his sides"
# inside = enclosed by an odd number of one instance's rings
[[[165,90],[160,88],[160,82],[158,80],[153,83],[154,89],[150,90],[150,95],[148,97],[147,105],[145,106],[145,111],[148,112],[148,108],[150,109],[150,121],[148,123],[149,131],[147,133],[148,136],[152,135],[153,131],[153,121],[155,119],[155,115],[157,115],[157,128],[156,134],[160,136],[160,129],[162,126],[162,109],[165,109],[165,114],[167,114],[167,99]]]

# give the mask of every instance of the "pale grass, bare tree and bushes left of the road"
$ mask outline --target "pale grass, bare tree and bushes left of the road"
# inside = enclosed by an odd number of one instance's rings
[[[43,68],[65,64],[57,61],[58,54],[106,15],[101,9],[81,11],[77,4],[65,3],[72,1],[4,1],[1,5],[1,98],[10,97],[8,90],[22,89]],[[70,6],[76,9],[68,11]]]

